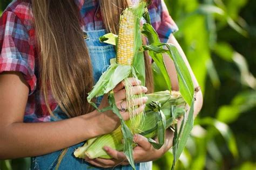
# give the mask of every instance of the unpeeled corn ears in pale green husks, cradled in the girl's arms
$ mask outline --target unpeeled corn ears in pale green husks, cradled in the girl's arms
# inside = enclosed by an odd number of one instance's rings
[[[159,91],[157,93],[146,95],[149,100],[146,103],[146,114],[145,114],[145,124],[140,127],[142,128],[142,134],[146,138],[153,138],[157,135],[157,118],[158,113],[152,109],[150,109],[150,103],[153,101],[158,101],[161,103],[161,110],[163,111],[166,118],[166,128],[169,126],[176,124],[176,118],[181,117],[185,111],[185,101],[181,95],[175,91]],[[172,106],[176,106],[176,110],[172,112]],[[125,122],[127,126],[130,128],[131,122]],[[107,153],[103,150],[103,146],[109,146],[117,151],[123,151],[123,134],[121,128],[119,126],[118,129],[114,130],[109,134],[105,134],[103,136],[98,137],[97,139],[93,138],[88,140],[84,146],[77,148],[74,152],[75,157],[77,158],[85,158],[89,157],[93,158],[105,158],[110,159],[111,157],[107,155]],[[136,146],[133,143],[133,147]]]

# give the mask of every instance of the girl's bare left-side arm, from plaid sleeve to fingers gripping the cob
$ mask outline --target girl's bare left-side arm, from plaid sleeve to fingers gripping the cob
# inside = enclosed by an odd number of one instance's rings
[[[123,94],[119,85],[115,98]],[[22,73],[0,74],[0,160],[54,152],[109,133],[120,125],[119,118],[112,111],[93,111],[58,122],[23,123],[28,94],[29,86]],[[128,112],[122,112],[122,116],[129,119]]]

